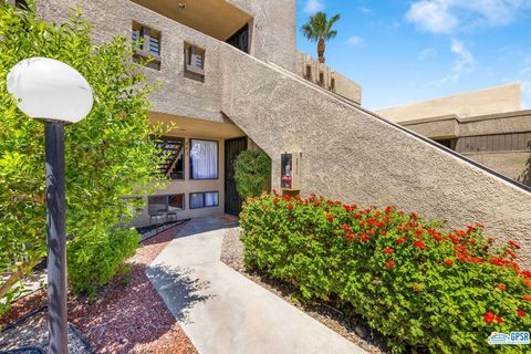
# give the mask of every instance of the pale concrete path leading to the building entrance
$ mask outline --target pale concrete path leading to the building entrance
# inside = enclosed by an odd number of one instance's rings
[[[220,262],[231,227],[214,218],[191,220],[146,270],[199,353],[365,353]]]

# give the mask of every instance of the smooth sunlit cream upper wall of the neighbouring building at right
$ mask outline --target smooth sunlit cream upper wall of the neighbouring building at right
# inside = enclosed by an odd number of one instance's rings
[[[465,118],[519,110],[521,110],[520,84],[509,84],[375,112],[384,118],[400,123],[449,114]]]

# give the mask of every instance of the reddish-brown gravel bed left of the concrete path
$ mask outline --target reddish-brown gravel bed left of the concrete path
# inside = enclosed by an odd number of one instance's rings
[[[96,353],[197,353],[145,274],[149,263],[183,227],[174,227],[144,241],[128,260],[132,273],[127,282],[110,283],[98,292],[96,302],[70,299],[69,320]],[[22,298],[0,319],[0,326],[44,304],[43,291]]]

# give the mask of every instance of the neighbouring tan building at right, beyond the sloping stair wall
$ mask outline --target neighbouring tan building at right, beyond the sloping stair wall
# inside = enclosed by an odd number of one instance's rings
[[[531,111],[509,84],[376,111],[500,174],[531,186]]]

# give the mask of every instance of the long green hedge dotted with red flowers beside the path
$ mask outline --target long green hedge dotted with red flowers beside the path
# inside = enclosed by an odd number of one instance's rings
[[[491,332],[531,326],[531,272],[481,225],[441,232],[394,207],[263,195],[240,218],[247,267],[362,315],[400,352],[488,353]],[[523,353],[523,346],[500,346]]]

